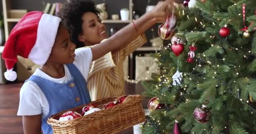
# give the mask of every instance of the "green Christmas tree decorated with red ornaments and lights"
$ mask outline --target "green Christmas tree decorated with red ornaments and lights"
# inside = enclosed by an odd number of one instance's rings
[[[153,55],[161,75],[142,82],[152,98],[142,133],[256,134],[256,0],[184,7],[170,44]]]

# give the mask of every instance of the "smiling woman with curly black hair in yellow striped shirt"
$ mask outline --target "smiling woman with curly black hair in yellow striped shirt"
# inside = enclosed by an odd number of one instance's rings
[[[61,19],[68,27],[72,41],[78,47],[90,47],[108,38],[106,27],[99,19],[99,13],[91,0],[69,0],[64,4],[60,14]],[[152,18],[144,26],[149,28],[157,21],[159,20]],[[122,49],[121,46],[92,62],[88,76],[88,90],[92,101],[124,95],[123,61],[125,57],[145,44],[147,39],[143,34],[131,41],[125,48]]]

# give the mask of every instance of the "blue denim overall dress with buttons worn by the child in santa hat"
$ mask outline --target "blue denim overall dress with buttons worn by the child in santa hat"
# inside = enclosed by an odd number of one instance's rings
[[[49,113],[42,119],[44,134],[53,134],[51,125],[47,124],[50,116],[91,102],[87,82],[81,72],[74,64],[67,64],[67,67],[73,77],[67,83],[56,83],[36,75],[29,78],[39,86],[49,103]]]

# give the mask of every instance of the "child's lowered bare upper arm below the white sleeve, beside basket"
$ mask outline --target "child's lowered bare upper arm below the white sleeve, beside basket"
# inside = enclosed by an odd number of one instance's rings
[[[41,134],[41,114],[22,116],[24,134]]]

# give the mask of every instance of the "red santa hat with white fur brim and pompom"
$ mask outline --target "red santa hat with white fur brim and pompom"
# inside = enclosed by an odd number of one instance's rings
[[[17,55],[43,65],[51,54],[61,18],[39,11],[29,12],[12,29],[3,50],[6,80],[14,81]]]

